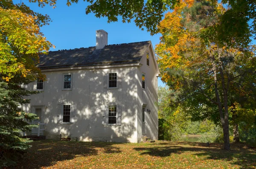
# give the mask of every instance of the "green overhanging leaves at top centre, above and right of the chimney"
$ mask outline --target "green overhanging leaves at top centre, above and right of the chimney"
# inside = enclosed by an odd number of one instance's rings
[[[79,0],[67,0],[67,5],[78,3]],[[162,20],[165,11],[173,9],[177,0],[84,0],[90,3],[85,9],[86,14],[93,13],[96,17],[107,17],[108,23],[122,22],[135,25],[142,30],[145,27],[151,34],[157,33],[157,24]],[[71,2],[71,3],[70,3]]]

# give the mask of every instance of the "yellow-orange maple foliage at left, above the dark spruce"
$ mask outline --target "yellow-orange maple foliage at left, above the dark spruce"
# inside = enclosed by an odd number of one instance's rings
[[[17,9],[0,8],[0,73],[7,82],[15,74],[41,74],[35,66],[38,54],[47,54],[52,44],[40,32],[37,19]]]

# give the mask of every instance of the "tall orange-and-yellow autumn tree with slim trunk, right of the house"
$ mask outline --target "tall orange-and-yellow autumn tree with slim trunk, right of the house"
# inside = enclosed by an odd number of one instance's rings
[[[218,38],[219,18],[226,11],[216,0],[181,2],[159,25],[163,36],[156,53],[162,80],[175,90],[176,103],[200,115],[209,113],[207,107],[218,112],[224,149],[230,149],[230,91],[240,90],[244,82],[255,88],[256,65],[253,48]]]

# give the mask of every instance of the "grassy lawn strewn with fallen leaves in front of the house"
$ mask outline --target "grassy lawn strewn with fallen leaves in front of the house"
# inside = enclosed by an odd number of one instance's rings
[[[16,168],[167,168],[221,169],[255,168],[256,149],[243,144],[157,141],[156,143],[105,143],[34,141]]]

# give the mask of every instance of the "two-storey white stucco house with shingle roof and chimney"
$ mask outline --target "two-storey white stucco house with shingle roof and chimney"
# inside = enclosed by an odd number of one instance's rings
[[[108,33],[98,30],[96,47],[50,51],[40,56],[38,67],[47,81],[26,86],[42,92],[23,108],[39,116],[41,135],[134,143],[143,136],[158,139],[159,69],[151,41],[108,45]]]

